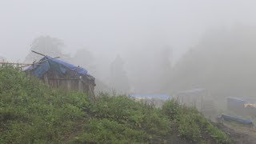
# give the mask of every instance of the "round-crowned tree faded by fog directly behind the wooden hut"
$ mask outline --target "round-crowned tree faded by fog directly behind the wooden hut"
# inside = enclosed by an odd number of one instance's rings
[[[58,38],[52,38],[50,36],[40,36],[34,39],[34,41],[31,44],[30,50],[34,50],[52,57],[63,57],[64,54],[62,54],[61,50],[62,46],[64,46],[64,43]],[[42,58],[41,55],[30,52],[30,54],[26,56],[25,61],[34,62],[34,60],[38,61],[40,58]]]

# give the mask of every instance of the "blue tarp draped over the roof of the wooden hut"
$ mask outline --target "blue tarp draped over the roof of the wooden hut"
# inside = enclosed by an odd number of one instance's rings
[[[88,73],[87,70],[82,67],[74,66],[61,60],[51,58],[49,56],[42,58],[40,61],[42,61],[40,65],[30,66],[26,69],[34,70],[34,76],[38,78],[41,78],[42,75],[45,74],[48,70],[54,70],[60,75],[66,74],[66,70],[73,70],[78,74]]]

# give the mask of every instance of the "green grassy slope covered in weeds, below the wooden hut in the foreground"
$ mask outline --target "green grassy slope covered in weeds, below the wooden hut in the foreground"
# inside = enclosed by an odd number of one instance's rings
[[[0,69],[0,143],[230,143],[197,110],[166,102],[162,109],[124,96],[54,90],[13,68]]]

